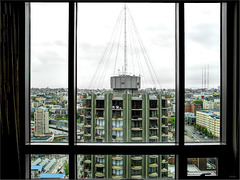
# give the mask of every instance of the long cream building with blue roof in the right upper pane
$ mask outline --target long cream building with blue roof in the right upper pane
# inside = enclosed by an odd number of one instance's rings
[[[197,111],[196,124],[207,128],[215,137],[220,137],[220,112],[219,111]]]

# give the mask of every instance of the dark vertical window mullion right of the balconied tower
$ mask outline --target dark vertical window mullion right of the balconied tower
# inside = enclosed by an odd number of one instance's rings
[[[185,42],[184,42],[184,3],[175,4],[175,53],[176,53],[176,142],[179,143],[179,156],[176,157],[176,178],[186,176],[184,156],[184,88],[185,88]]]

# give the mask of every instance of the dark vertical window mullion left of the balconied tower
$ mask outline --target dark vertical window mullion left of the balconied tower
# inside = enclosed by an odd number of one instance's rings
[[[76,142],[76,44],[77,44],[77,4],[69,2],[69,31],[68,31],[68,108],[69,108],[69,179],[76,178],[76,159],[74,145]]]

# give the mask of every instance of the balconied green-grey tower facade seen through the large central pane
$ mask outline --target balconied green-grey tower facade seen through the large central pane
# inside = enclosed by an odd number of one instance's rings
[[[168,142],[171,121],[161,94],[85,94],[80,142]]]

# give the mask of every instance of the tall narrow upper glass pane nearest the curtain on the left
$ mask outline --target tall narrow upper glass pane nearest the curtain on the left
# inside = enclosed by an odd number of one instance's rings
[[[68,141],[67,67],[68,4],[31,3],[31,142]]]

